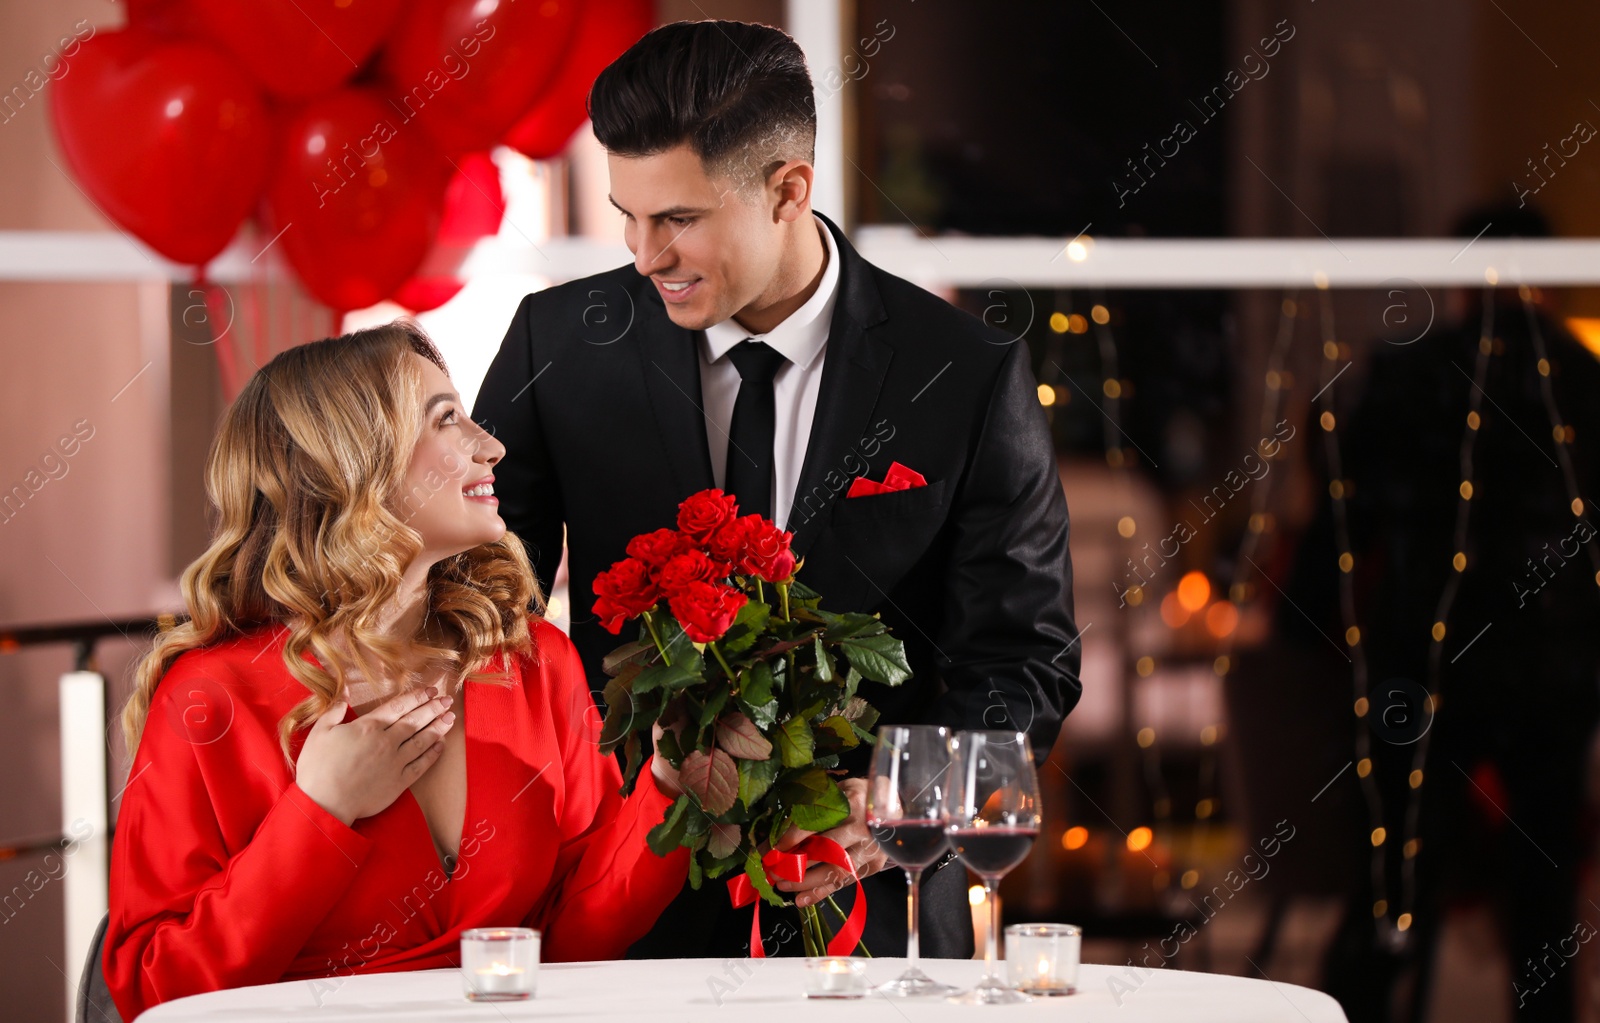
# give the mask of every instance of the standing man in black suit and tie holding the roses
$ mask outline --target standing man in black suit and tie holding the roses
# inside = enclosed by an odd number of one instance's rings
[[[880,612],[904,640],[914,677],[861,687],[883,722],[1021,730],[1042,760],[1080,693],[1078,631],[1026,344],[862,261],[811,211],[816,110],[786,34],[656,29],[598,77],[589,110],[634,266],[525,298],[474,418],[506,443],[501,516],[546,584],[565,527],[590,687],[619,642],[584,613],[595,576],[722,487],[794,532],[826,607]],[[896,461],[925,485],[846,495]],[[864,874],[867,948],[904,954],[904,882],[866,876],[885,857],[864,781],[843,788],[851,820],[829,836]],[[790,893],[816,901],[842,874],[814,866]],[[963,871],[928,874],[922,908],[925,954],[970,957]],[[749,914],[720,884],[685,889],[634,954],[747,954]]]

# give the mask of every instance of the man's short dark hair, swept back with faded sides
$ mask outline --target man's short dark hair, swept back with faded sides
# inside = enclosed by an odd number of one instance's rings
[[[814,158],[816,101],[805,53],[771,26],[661,26],[600,72],[589,90],[589,118],[610,152],[648,157],[688,144],[707,173],[741,179]]]

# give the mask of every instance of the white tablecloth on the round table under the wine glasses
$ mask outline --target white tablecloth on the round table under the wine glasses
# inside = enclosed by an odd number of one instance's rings
[[[904,959],[874,959],[867,978],[896,977]],[[923,961],[926,973],[971,986],[982,962]],[[803,997],[803,959],[718,961],[654,959],[573,962],[539,967],[538,996],[526,1002],[467,1002],[456,970],[373,973],[326,981],[291,981],[197,994],[157,1005],[139,1023],[208,1020],[266,1023],[280,1020],[618,1020],[627,1023],[694,1023],[726,1020],[1115,1020],[1115,1023],[1344,1023],[1338,1002],[1294,985],[1181,970],[1142,972],[1083,965],[1078,993],[1037,997],[1027,1005],[954,1005],[942,1001],[893,1002]],[[1115,978],[1118,983],[1110,983]],[[1120,999],[1120,1005],[1118,1005]]]

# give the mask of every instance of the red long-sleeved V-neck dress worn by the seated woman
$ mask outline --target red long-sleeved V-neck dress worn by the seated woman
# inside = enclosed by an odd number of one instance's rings
[[[410,791],[347,828],[294,784],[277,727],[306,688],[283,637],[264,626],[189,650],[155,692],[112,848],[102,965],[123,1020],[221,988],[326,978],[317,994],[350,973],[459,965],[466,927],[538,927],[547,962],[618,959],[683,887],[686,850],[645,845],[672,800],[648,765],[618,794],[555,626],[533,623],[538,663],[490,664],[514,685],[462,688],[467,813],[448,879]]]

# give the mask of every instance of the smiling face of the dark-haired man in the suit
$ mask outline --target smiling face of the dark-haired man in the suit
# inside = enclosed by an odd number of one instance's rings
[[[736,191],[731,179],[710,178],[688,146],[606,162],[634,266],[654,282],[674,323],[704,330],[763,298],[782,231],[760,186]]]

